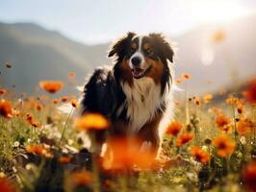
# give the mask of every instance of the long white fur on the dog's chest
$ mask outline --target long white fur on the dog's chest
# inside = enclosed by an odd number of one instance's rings
[[[130,133],[139,132],[142,126],[150,121],[161,108],[164,98],[161,96],[160,84],[155,84],[151,78],[134,80],[133,86],[123,83],[122,89],[126,95],[124,106],[127,108],[127,118],[130,119]]]

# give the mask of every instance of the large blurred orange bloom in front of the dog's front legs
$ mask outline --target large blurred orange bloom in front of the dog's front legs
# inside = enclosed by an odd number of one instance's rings
[[[135,166],[148,169],[153,165],[155,156],[151,150],[141,151],[141,142],[137,138],[112,138],[108,142],[102,165],[106,170],[121,171]]]

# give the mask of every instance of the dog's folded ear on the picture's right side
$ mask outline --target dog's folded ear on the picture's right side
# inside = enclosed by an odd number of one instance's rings
[[[169,60],[173,62],[174,52],[170,47],[169,43],[165,40],[162,34],[149,34],[157,49],[160,51],[160,57],[163,60]]]

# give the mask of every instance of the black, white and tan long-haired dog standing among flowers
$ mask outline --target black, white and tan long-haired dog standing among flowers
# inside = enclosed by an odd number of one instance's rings
[[[127,33],[108,53],[110,69],[96,69],[84,87],[82,114],[101,113],[111,128],[95,132],[93,151],[112,136],[135,135],[141,148],[158,156],[163,131],[172,117],[174,52],[162,34]]]

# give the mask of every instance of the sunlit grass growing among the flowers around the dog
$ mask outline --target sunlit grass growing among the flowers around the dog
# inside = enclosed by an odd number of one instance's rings
[[[12,102],[15,112],[0,117],[0,177],[17,191],[242,191],[244,167],[256,155],[255,124],[244,124],[245,133],[238,130],[242,119],[256,119],[255,106],[242,97],[215,102],[216,95],[208,104],[202,97],[186,98],[175,109],[174,119],[182,128],[177,135],[165,135],[162,160],[150,169],[123,167],[115,172],[102,170],[84,149],[83,133],[75,129],[74,119],[58,109],[61,99],[10,92],[2,97]],[[65,103],[71,105],[69,101]],[[221,126],[216,121],[220,113],[227,121]],[[185,133],[191,133],[192,140],[177,146]],[[219,135],[227,136],[222,142],[230,144],[229,150],[215,143]],[[202,149],[198,156],[192,155],[193,146]],[[220,156],[221,149],[227,154]],[[200,153],[209,159],[202,162]]]

